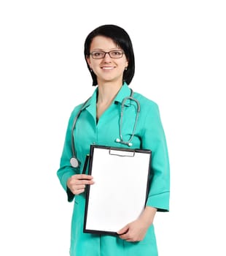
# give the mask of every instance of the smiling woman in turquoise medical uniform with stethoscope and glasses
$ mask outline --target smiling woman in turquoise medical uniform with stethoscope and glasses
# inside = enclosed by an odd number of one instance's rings
[[[88,34],[85,61],[97,88],[85,104],[71,113],[57,173],[68,200],[74,200],[70,255],[157,256],[153,221],[156,211],[168,211],[170,193],[168,150],[157,104],[139,93],[131,93],[128,87],[135,70],[133,46],[127,32],[119,26],[100,26]],[[123,102],[126,97],[132,99]],[[95,177],[82,174],[82,168],[93,143],[152,151],[147,204],[138,219],[118,230],[118,236],[83,233],[85,187],[95,186]],[[70,164],[73,151],[78,163],[74,167]],[[139,170],[137,173],[139,182]]]

